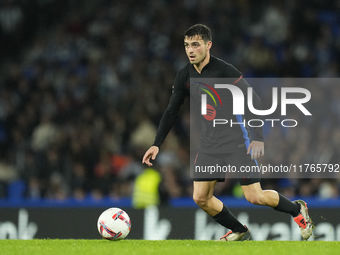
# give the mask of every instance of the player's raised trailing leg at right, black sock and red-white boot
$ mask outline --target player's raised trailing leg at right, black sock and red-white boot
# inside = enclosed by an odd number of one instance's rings
[[[290,201],[275,190],[262,190],[259,182],[241,185],[245,198],[252,204],[270,206],[275,210],[289,213],[299,225],[303,239],[312,235],[313,224],[308,214],[307,203],[302,200]]]

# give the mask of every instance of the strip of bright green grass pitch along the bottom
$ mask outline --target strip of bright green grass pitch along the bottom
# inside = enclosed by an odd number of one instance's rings
[[[217,254],[340,254],[340,242],[325,241],[244,241],[195,240],[0,240],[1,255],[217,255]]]

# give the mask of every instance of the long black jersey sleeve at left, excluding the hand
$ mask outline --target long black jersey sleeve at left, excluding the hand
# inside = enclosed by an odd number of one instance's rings
[[[159,123],[153,146],[160,147],[163,144],[166,136],[177,119],[179,108],[187,96],[189,96],[189,92],[185,89],[185,80],[178,73],[172,88],[170,102]]]

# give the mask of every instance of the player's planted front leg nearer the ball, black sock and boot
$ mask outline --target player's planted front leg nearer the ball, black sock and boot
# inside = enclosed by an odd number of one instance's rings
[[[221,200],[213,195],[216,182],[216,180],[194,181],[193,199],[195,203],[207,214],[212,216],[216,222],[228,229],[231,229],[231,232],[222,237],[221,240],[242,240],[249,230],[236,219]]]

